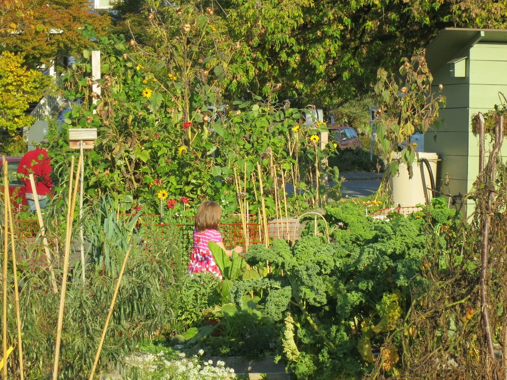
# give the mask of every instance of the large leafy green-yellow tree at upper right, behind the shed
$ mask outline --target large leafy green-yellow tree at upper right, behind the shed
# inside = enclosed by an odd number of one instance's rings
[[[227,25],[243,42],[230,88],[321,105],[371,91],[439,28],[507,26],[499,0],[232,0]]]

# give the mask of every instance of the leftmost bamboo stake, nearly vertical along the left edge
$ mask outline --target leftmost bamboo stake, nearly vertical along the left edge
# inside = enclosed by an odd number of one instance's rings
[[[9,202],[9,184],[7,183],[7,159],[5,156],[2,156],[2,163],[4,165],[4,268],[3,268],[3,277],[2,277],[2,289],[3,289],[3,322],[2,322],[2,349],[4,352],[4,368],[3,368],[3,379],[7,380],[7,264],[8,264],[8,255],[9,249],[7,245],[9,244],[9,240],[7,239],[7,226],[9,224],[9,214],[7,212],[7,203]]]

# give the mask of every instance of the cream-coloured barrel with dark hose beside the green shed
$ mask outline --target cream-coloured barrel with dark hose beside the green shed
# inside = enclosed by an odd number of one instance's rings
[[[419,152],[417,153],[414,163],[412,164],[413,176],[409,178],[407,166],[400,163],[398,174],[391,177],[391,196],[395,207],[410,207],[417,204],[427,204],[434,197],[428,187],[431,187],[430,175],[426,165],[421,159],[429,162],[429,167],[433,175],[433,182],[437,180],[437,161],[436,153]],[[394,159],[400,159],[401,155],[394,155]]]

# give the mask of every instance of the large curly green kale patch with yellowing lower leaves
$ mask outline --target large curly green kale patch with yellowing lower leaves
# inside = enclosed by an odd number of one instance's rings
[[[284,319],[282,350],[298,378],[360,378],[375,362],[372,346],[382,346],[409,310],[410,289],[426,284],[420,270],[426,223],[433,211],[451,223],[454,214],[443,207],[437,202],[427,214],[374,220],[351,202],[328,206],[331,244],[305,235],[293,246],[283,240],[252,246],[246,260],[269,260],[272,272],[237,281],[231,300],[241,305],[253,291],[265,317]],[[397,349],[386,347],[395,365]]]

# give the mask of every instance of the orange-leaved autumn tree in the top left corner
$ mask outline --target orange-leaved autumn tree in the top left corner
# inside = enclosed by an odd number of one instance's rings
[[[3,0],[0,10],[0,51],[25,55],[30,67],[58,55],[78,54],[89,42],[83,25],[100,34],[110,19],[92,12],[89,0]]]

